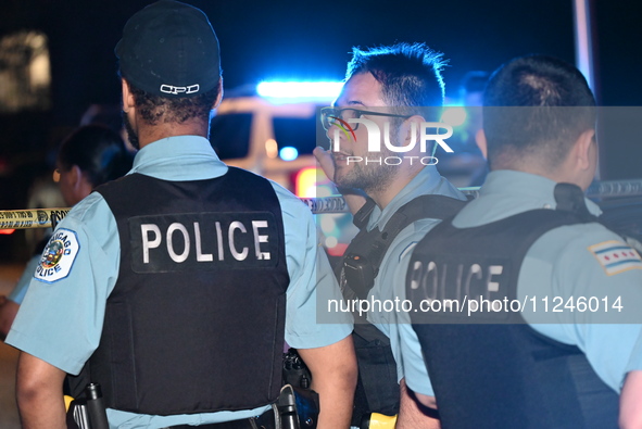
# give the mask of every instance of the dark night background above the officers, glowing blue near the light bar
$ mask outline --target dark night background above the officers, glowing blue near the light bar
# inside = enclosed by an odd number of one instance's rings
[[[0,37],[38,29],[49,38],[52,108],[0,115],[0,210],[23,207],[48,150],[92,103],[118,103],[113,48],[149,0],[2,0]],[[425,41],[444,53],[446,94],[471,70],[526,53],[575,62],[572,0],[257,1],[188,0],[221,40],[226,90],[262,79],[343,77],[353,46]],[[596,94],[603,105],[642,105],[642,5],[595,0]],[[642,123],[642,121],[640,121]],[[640,133],[642,135],[642,131]],[[642,177],[633,137],[601,141],[601,178]]]

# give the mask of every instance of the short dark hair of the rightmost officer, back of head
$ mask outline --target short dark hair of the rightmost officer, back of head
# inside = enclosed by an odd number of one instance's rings
[[[577,138],[595,127],[587,79],[552,56],[526,55],[502,65],[486,87],[483,106],[491,167],[532,153],[556,167]]]

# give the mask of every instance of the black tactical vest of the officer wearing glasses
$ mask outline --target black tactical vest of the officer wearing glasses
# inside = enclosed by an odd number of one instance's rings
[[[354,215],[360,232],[344,252],[336,275],[347,300],[365,300],[375,283],[379,266],[394,238],[408,225],[425,218],[443,219],[460,211],[466,201],[444,195],[420,195],[403,205],[386,224],[383,230],[367,230],[375,202],[368,199]],[[392,287],[392,286],[391,286]],[[352,425],[361,426],[368,413],[399,413],[396,364],[390,340],[364,316],[354,314],[354,348],[358,362],[358,382]]]

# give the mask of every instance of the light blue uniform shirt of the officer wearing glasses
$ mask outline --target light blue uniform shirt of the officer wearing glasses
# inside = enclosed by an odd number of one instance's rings
[[[457,188],[441,177],[435,166],[426,166],[394,197],[383,211],[378,206],[375,207],[367,226],[368,230],[375,227],[383,229],[386,223],[390,220],[399,209],[415,198],[425,194],[440,194],[460,200],[466,199]],[[420,219],[401,230],[381,261],[379,274],[375,278],[375,285],[368,294],[368,299],[388,300],[388,302],[394,302],[395,299],[398,301],[405,299],[405,289],[401,286],[405,285],[405,272],[407,270],[408,261],[402,256],[410,253],[410,250],[437,223],[438,220],[436,219]],[[403,273],[403,276],[399,277],[399,273]],[[367,318],[368,321],[390,338],[390,346],[394,362],[396,363],[398,381],[406,377],[423,379],[429,382],[428,373],[421,356],[421,346],[412,327],[410,325],[399,324],[395,311],[369,312]],[[403,331],[403,336],[406,338],[404,343],[401,343],[399,340],[400,330]]]

